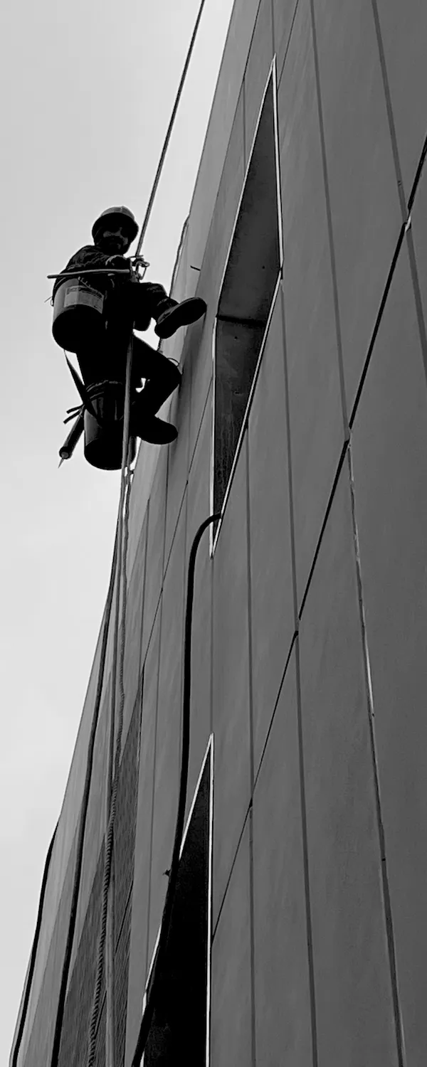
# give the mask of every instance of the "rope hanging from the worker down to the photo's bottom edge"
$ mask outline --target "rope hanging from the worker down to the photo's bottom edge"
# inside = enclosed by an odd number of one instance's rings
[[[129,471],[131,360],[132,360],[132,339],[129,340],[127,361],[126,361],[122,478],[121,478],[121,496],[118,505],[120,522],[118,522],[118,532],[117,532],[118,572],[117,572],[115,617],[114,617],[113,662],[111,668],[111,715],[110,715],[109,760],[107,768],[107,790],[106,790],[107,833],[106,833],[106,846],[105,846],[105,859],[104,859],[101,918],[100,918],[100,927],[99,927],[99,937],[97,946],[96,976],[95,976],[95,987],[94,987],[91,1020],[89,1026],[89,1038],[88,1038],[88,1061],[86,1061],[88,1067],[93,1067],[95,1063],[96,1034],[98,1028],[99,1007],[100,1007],[100,999],[102,991],[102,973],[104,973],[104,961],[106,957],[107,935],[108,935],[108,945],[107,945],[108,966],[106,966],[106,986],[107,986],[106,1045],[108,1050],[107,1064],[108,1067],[113,1067],[114,1064],[114,1049],[113,1049],[114,1045],[113,903],[114,902],[113,902],[113,894],[111,893],[110,890],[111,890],[113,844],[114,844],[114,821],[116,812],[120,761],[121,761],[121,750],[122,750],[123,713],[125,704],[124,658],[125,658],[126,604],[127,604],[126,557],[127,557],[128,536],[129,536],[129,501],[130,501],[130,480],[131,480],[131,475]],[[121,624],[121,644],[120,644],[120,656],[118,656],[118,631],[120,631],[120,608],[121,608],[122,588],[123,588],[122,624]],[[115,737],[115,690],[116,690],[116,678],[117,678],[117,656],[118,656],[120,703],[118,703],[117,730]],[[115,737],[115,750],[114,750],[114,737]]]

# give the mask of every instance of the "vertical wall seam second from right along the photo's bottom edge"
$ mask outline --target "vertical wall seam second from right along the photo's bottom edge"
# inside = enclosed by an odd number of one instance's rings
[[[302,701],[301,701],[299,635],[297,635],[296,638],[295,650],[296,650],[295,659],[296,659],[296,675],[297,675],[297,728],[298,728],[298,757],[299,757],[299,771],[300,771],[299,779],[300,779],[300,803],[301,803],[302,857],[303,857],[303,869],[304,869],[305,928],[306,928],[307,964],[309,964],[310,1018],[311,1018],[311,1032],[312,1032],[312,1062],[313,1062],[313,1067],[318,1067],[316,986],[314,977],[312,906],[311,906],[311,895],[310,895],[309,840],[307,840],[307,819],[306,819],[306,805],[305,805],[305,774],[304,774],[304,751],[303,751],[303,735],[302,735]]]

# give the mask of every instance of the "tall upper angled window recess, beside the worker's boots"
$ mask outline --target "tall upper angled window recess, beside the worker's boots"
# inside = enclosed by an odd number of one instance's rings
[[[275,99],[273,63],[222,280],[213,337],[211,504],[218,513],[225,505],[237,461],[282,266]]]

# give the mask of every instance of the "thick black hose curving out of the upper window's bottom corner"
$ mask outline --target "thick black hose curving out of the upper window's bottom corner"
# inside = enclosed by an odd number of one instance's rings
[[[184,819],[186,814],[186,801],[187,801],[188,764],[190,755],[191,633],[192,633],[193,600],[194,600],[195,559],[197,555],[197,548],[206,527],[209,526],[210,523],[216,522],[218,519],[220,519],[219,514],[209,515],[209,517],[205,519],[205,521],[201,524],[193,539],[193,543],[191,545],[191,551],[190,551],[190,558],[188,562],[187,606],[186,606],[186,624],[185,624],[185,638],[184,638],[183,737],[181,737],[181,764],[180,764],[180,777],[179,777],[178,810],[176,814],[175,838],[172,851],[172,862],[171,862],[170,876],[168,882],[168,891],[164,901],[159,944],[157,949],[156,962],[154,967],[154,977],[151,984],[151,990],[145,1012],[141,1020],[140,1032],[138,1035],[137,1047],[133,1053],[131,1067],[140,1067],[140,1063],[144,1054],[145,1046],[149,1034],[149,1028],[152,1025],[153,1016],[155,1013],[156,998],[161,982],[161,971],[164,964],[164,955],[168,947],[169,930],[171,926],[171,918],[172,918],[172,911],[176,892],[176,883],[178,877],[179,854],[183,841]]]

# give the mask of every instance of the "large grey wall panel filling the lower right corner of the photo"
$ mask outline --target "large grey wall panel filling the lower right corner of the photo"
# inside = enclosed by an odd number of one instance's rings
[[[404,246],[353,433],[355,509],[408,1064],[427,1054],[427,394]]]

